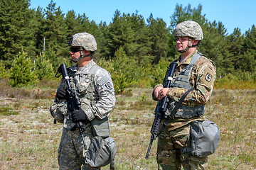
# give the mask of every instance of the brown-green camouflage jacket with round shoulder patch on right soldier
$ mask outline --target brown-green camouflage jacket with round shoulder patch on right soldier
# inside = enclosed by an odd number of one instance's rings
[[[183,60],[182,62],[179,62],[181,60],[181,57],[178,58],[175,62],[177,62],[177,67],[174,71],[174,79],[178,76],[178,74],[181,72],[181,70],[188,65],[191,62],[191,59],[193,55],[198,52],[197,50],[193,52],[193,54],[188,57],[186,60]],[[166,72],[166,75],[168,72]],[[199,105],[205,105],[210,98],[210,95],[213,92],[213,84],[216,77],[216,68],[215,64],[209,60],[205,56],[201,56],[199,60],[193,65],[192,71],[189,77],[189,83],[191,84],[191,87],[194,87],[195,90],[191,91],[188,96],[184,99],[182,105],[185,106],[199,106]],[[156,89],[157,86],[163,86],[163,84],[166,84],[166,77],[164,78],[164,81],[162,84],[157,84],[154,89]],[[186,93],[188,89],[185,88],[169,88],[167,91],[167,96],[169,98],[173,99],[174,101],[178,102],[183,96],[183,94]],[[153,91],[153,99],[157,100],[154,97],[154,91]],[[199,118],[205,120],[204,116],[202,115]],[[175,128],[179,128],[183,125],[186,125],[187,123],[190,123],[191,121],[195,120],[192,119],[183,119],[183,118],[175,118],[171,120],[171,124],[169,125],[169,130],[173,130]],[[170,127],[171,126],[171,127]]]

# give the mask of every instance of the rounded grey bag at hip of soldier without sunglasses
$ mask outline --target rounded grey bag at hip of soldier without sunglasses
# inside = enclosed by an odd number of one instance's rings
[[[191,154],[207,157],[213,154],[220,141],[220,130],[210,120],[194,120],[191,124]]]

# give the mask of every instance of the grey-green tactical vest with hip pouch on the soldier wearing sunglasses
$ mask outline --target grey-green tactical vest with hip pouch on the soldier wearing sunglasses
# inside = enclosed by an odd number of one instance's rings
[[[75,77],[78,74],[75,74],[76,72],[73,72],[70,68],[68,68],[69,76],[70,76],[70,86],[73,89],[76,89],[78,93],[80,94],[79,98],[81,103],[83,105],[81,108],[83,110],[87,110],[88,108],[92,108],[92,106],[95,105],[95,103],[99,100],[99,96],[94,96],[93,91],[95,90],[93,81],[95,74],[97,70],[100,69],[100,66],[97,64],[92,65],[92,68],[89,70],[87,74],[83,74],[85,76],[85,79],[83,79],[82,82],[79,82],[77,86],[75,86],[75,82],[73,80],[73,77]],[[79,75],[78,75],[79,76]],[[100,79],[100,81],[106,81],[105,79]],[[99,84],[102,84],[99,82]],[[88,105],[88,103],[90,103]],[[72,121],[72,120],[69,120]],[[101,137],[108,137],[110,136],[110,125],[107,116],[103,119],[98,119],[95,117],[92,121],[92,130],[95,134],[95,136],[101,136]],[[74,123],[71,123],[74,124]],[[74,124],[75,125],[75,124]],[[68,128],[70,129],[70,128]]]

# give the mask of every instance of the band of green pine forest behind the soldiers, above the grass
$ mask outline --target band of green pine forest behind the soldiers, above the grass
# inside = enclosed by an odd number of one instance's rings
[[[186,20],[198,22],[203,40],[198,50],[217,67],[216,88],[255,88],[256,28],[228,35],[222,22],[210,22],[197,8],[176,5],[170,26],[153,15],[116,10],[109,25],[88,20],[85,13],[63,13],[54,1],[46,8],[29,8],[30,1],[1,0],[0,77],[11,86],[31,86],[53,80],[61,63],[71,65],[68,40],[75,33],[95,36],[94,60],[112,74],[117,93],[128,86],[161,83],[166,67],[178,57],[174,29]],[[228,82],[228,84],[227,84]],[[239,83],[238,83],[239,82]]]

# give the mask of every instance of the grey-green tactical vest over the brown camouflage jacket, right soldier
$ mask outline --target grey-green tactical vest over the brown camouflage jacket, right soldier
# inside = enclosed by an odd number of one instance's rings
[[[176,79],[171,82],[171,88],[186,88],[191,89],[191,84],[189,83],[189,77],[193,68],[193,65],[198,61],[198,59],[202,56],[201,52],[197,52],[196,55],[193,56],[190,64],[184,67],[181,72],[178,74]],[[169,104],[169,108],[167,109],[166,113],[171,113],[176,105],[176,101],[171,100]],[[169,110],[169,111],[168,111]],[[174,115],[174,118],[193,118],[196,116],[203,115],[205,113],[205,105],[201,106],[183,106],[181,105],[178,108],[177,113]]]

